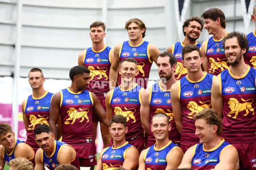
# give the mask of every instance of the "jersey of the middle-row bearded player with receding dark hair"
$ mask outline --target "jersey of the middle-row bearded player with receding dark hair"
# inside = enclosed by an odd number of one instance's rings
[[[169,139],[178,144],[180,142],[180,133],[177,130],[175,121],[173,119],[171,91],[165,91],[160,86],[160,82],[152,85],[149,91],[150,120],[152,121],[152,118],[156,113],[166,113],[166,115],[169,117],[169,122],[172,125],[172,129],[169,131]],[[152,123],[151,121],[150,124]],[[150,128],[147,146],[150,147],[155,142],[154,134]]]

